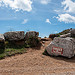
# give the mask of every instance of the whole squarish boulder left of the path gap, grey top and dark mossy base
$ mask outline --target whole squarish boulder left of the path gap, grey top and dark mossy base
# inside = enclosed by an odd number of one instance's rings
[[[39,39],[38,39],[39,33],[36,31],[29,31],[25,35],[25,43],[29,45],[30,47],[36,47],[39,45]]]

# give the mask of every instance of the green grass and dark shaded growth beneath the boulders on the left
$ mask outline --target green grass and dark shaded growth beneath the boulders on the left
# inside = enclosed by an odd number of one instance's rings
[[[40,43],[38,38],[35,38],[35,37],[29,37],[29,39],[19,41],[19,42],[5,41],[5,49],[0,50],[0,59],[3,59],[7,56],[15,55],[15,54],[25,53],[26,48],[36,47]]]

